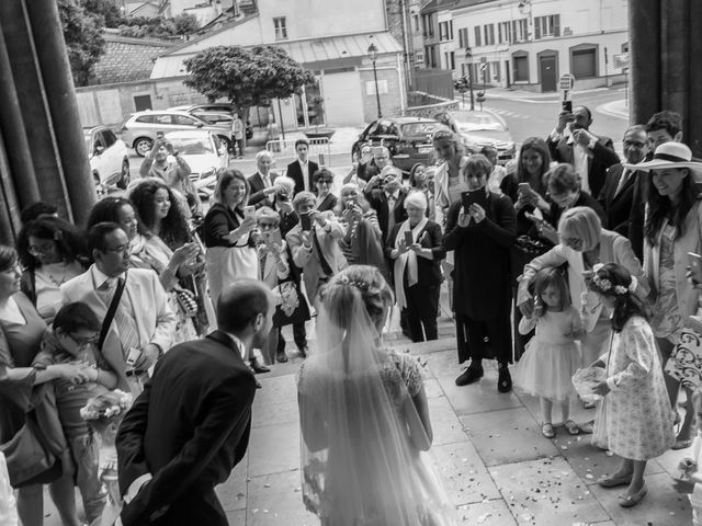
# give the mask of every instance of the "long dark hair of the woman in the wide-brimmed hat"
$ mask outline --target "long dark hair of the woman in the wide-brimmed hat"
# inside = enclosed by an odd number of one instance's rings
[[[670,225],[676,227],[675,239],[680,238],[684,233],[684,221],[692,209],[692,205],[698,201],[698,192],[694,190],[694,182],[692,181],[690,170],[687,168],[682,170],[687,170],[688,174],[682,180],[680,203],[677,206],[672,205],[668,196],[658,193],[653,183],[654,172],[648,172],[648,196],[646,198],[648,214],[646,216],[646,224],[644,225],[644,237],[652,247],[658,243],[658,235],[663,228],[663,221],[667,217],[671,218]]]

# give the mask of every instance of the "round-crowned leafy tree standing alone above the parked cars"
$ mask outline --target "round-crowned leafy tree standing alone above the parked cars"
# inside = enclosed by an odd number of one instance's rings
[[[246,119],[249,107],[299,93],[315,76],[275,46],[216,46],[185,60],[183,81],[211,102],[227,99]]]

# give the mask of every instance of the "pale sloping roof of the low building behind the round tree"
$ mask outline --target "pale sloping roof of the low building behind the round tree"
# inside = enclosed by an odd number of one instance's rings
[[[372,41],[371,41],[372,37]],[[365,33],[341,36],[328,36],[324,38],[306,38],[299,41],[276,42],[270,45],[283,48],[293,60],[309,69],[324,69],[344,65],[360,65],[361,59],[367,55],[370,43],[373,42],[378,49],[378,55],[401,53],[403,48],[389,32]],[[253,47],[253,46],[244,46]],[[181,47],[182,53],[174,49],[161,55],[154,66],[151,79],[168,77],[182,77],[186,75],[183,61],[195,55]]]

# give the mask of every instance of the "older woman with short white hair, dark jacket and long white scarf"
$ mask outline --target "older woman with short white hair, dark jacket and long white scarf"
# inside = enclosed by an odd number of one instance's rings
[[[441,227],[427,218],[427,196],[412,191],[405,197],[407,220],[395,225],[385,254],[394,260],[395,298],[407,309],[412,342],[437,340],[441,287],[440,262],[445,255]]]

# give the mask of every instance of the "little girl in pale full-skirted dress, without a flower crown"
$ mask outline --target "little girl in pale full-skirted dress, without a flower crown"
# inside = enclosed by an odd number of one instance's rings
[[[573,375],[580,364],[580,350],[576,340],[582,334],[582,322],[570,304],[565,276],[558,268],[543,268],[534,282],[534,310],[522,318],[519,332],[536,335],[526,345],[514,371],[514,386],[541,399],[542,428],[546,438],[553,438],[553,403],[562,408],[564,426],[571,435],[580,430],[568,418],[570,397],[574,395]]]

